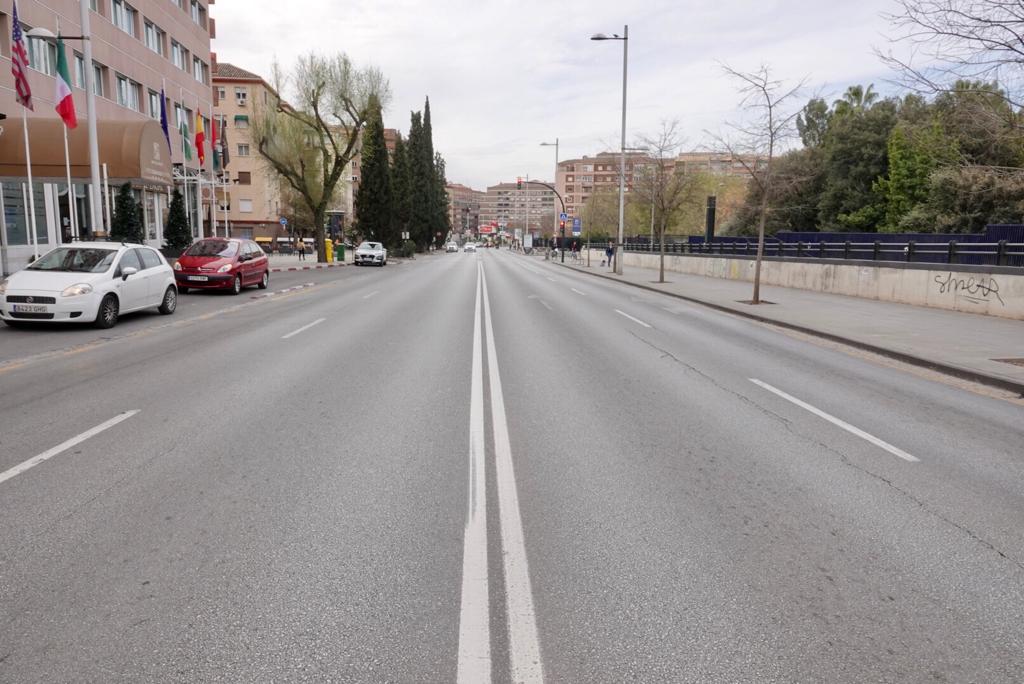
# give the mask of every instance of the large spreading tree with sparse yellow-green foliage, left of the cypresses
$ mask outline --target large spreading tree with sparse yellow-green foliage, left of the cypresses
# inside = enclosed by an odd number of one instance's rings
[[[300,57],[290,75],[274,65],[274,93],[256,102],[256,148],[308,209],[324,253],[324,224],[345,167],[357,153],[359,136],[376,102],[390,98],[387,79],[373,68],[356,69],[344,54]],[[294,95],[295,104],[283,99]]]

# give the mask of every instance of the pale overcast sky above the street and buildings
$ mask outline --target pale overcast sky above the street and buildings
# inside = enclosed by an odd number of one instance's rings
[[[220,61],[268,76],[316,50],[343,51],[391,83],[385,125],[409,129],[430,96],[434,146],[450,181],[478,189],[516,176],[551,179],[560,158],[617,147],[621,42],[629,24],[627,139],[678,120],[690,148],[736,120],[739,71],[769,65],[807,96],[891,77],[872,52],[887,47],[892,0],[218,0]]]

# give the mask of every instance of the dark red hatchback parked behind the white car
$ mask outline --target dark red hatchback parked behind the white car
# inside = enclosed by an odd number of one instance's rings
[[[255,285],[265,290],[270,283],[266,253],[256,243],[237,238],[204,238],[186,249],[174,264],[178,292],[229,290]]]

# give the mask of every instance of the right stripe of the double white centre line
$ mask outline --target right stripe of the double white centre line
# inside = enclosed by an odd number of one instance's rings
[[[505,566],[505,609],[508,613],[509,661],[513,682],[543,682],[541,645],[537,636],[534,594],[529,586],[526,544],[515,487],[512,445],[509,442],[505,396],[498,370],[495,331],[490,322],[487,276],[483,279],[483,325],[487,340],[487,372],[490,385],[490,422],[495,435],[495,473],[498,481],[498,517],[502,529],[502,562]]]

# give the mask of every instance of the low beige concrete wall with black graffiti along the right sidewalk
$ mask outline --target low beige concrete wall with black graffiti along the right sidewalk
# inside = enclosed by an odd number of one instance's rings
[[[597,261],[593,261],[595,258]],[[599,264],[603,258],[603,251],[592,251],[592,263]],[[656,269],[658,255],[627,253],[624,263]],[[754,281],[754,260],[745,258],[666,255],[665,268],[707,277]],[[1024,274],[1006,268],[957,268],[963,267],[766,259],[761,264],[761,283],[1024,320]]]

